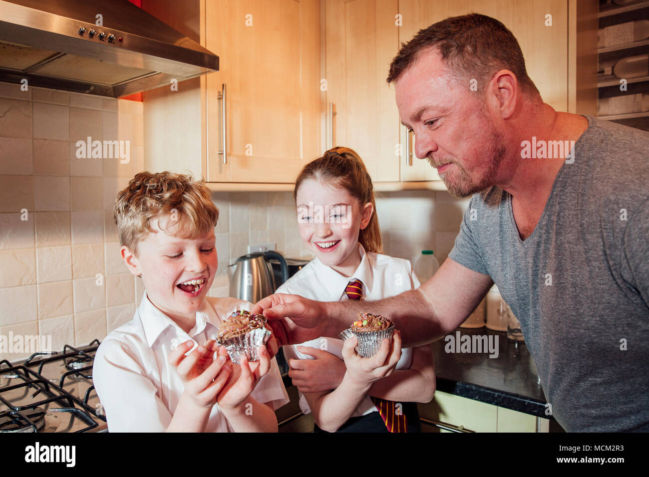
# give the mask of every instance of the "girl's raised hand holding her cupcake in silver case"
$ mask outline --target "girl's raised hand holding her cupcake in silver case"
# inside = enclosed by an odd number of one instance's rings
[[[389,376],[401,358],[401,334],[396,331],[389,339],[384,339],[380,350],[371,358],[361,358],[356,353],[358,340],[352,336],[345,340],[343,358],[347,366],[347,377],[361,387],[370,387],[374,382]]]

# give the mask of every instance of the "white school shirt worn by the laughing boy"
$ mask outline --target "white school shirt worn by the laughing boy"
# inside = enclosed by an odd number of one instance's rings
[[[93,382],[106,413],[108,430],[166,430],[184,391],[175,367],[167,360],[171,350],[190,339],[195,343],[194,348],[216,339],[223,319],[234,310],[251,310],[251,307],[250,302],[243,300],[206,297],[196,313],[194,328],[186,333],[151,303],[145,291],[132,321],[110,332],[95,355]],[[251,396],[273,409],[289,402],[275,358]],[[215,404],[205,432],[232,431]]]

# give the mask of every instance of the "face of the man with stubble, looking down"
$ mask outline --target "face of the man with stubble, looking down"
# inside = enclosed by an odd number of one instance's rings
[[[486,85],[483,85],[486,86]],[[401,122],[415,133],[415,154],[437,169],[448,191],[468,197],[495,184],[505,154],[487,106],[427,49],[395,82]]]

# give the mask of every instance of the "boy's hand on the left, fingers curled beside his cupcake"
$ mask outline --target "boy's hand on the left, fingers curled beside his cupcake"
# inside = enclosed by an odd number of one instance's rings
[[[219,356],[214,360],[214,352],[218,349],[214,339],[185,356],[193,345],[191,340],[178,345],[169,354],[169,363],[176,368],[180,380],[185,385],[184,393],[187,393],[195,404],[212,408],[219,391],[232,373],[232,363],[227,361],[227,356]]]

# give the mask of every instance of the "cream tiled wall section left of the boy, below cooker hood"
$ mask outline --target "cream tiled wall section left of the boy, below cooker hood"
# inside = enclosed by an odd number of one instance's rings
[[[130,141],[129,162],[77,158],[88,136]],[[143,169],[142,144],[141,103],[0,83],[0,335],[51,335],[61,349],[132,318],[143,291],[119,257],[112,202]]]

